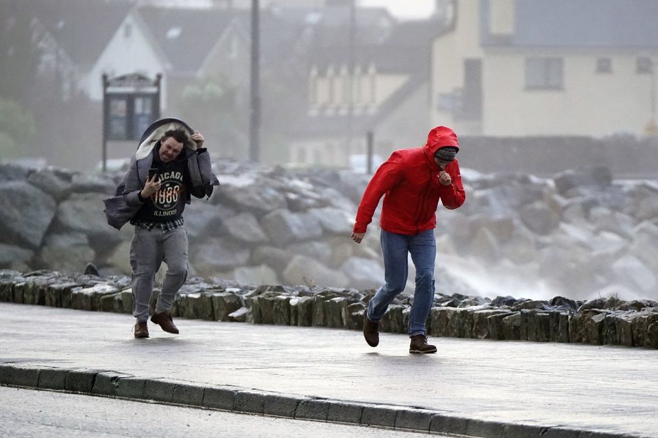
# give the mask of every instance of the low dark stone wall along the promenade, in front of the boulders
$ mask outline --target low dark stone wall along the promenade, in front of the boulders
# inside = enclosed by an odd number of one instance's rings
[[[373,294],[373,289],[239,285],[193,278],[182,287],[172,313],[174,317],[212,321],[361,330],[363,312]],[[132,312],[127,276],[0,270],[0,301]],[[410,304],[406,295],[394,300],[380,323],[381,331],[406,333]],[[658,302],[616,297],[585,302],[561,296],[551,300],[499,296],[490,300],[436,294],[427,329],[428,335],[437,337],[658,348]]]

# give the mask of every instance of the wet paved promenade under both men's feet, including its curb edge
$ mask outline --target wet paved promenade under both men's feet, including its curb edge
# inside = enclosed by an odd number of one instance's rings
[[[370,348],[356,331],[178,318],[180,335],[149,322],[151,337],[134,339],[127,314],[0,303],[0,315],[0,383],[26,367],[111,370],[137,377],[119,396],[132,383],[175,379],[231,387],[235,411],[249,411],[239,406],[248,399],[263,412],[266,400],[268,413],[279,394],[293,410],[270,413],[316,420],[479,437],[658,438],[657,350],[430,338],[437,354],[409,355],[409,338],[388,333]]]

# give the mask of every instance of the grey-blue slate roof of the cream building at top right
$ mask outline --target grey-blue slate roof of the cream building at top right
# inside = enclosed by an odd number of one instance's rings
[[[491,1],[482,3],[484,45],[529,47],[658,47],[658,1],[523,0],[515,2],[515,33],[501,40],[485,29]]]

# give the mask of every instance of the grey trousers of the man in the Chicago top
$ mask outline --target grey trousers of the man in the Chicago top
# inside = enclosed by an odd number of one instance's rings
[[[187,231],[177,228],[167,233],[135,227],[130,246],[132,266],[132,314],[138,321],[149,319],[149,302],[153,294],[156,273],[162,261],[167,263],[167,274],[162,281],[156,312],[169,311],[178,289],[187,279]]]

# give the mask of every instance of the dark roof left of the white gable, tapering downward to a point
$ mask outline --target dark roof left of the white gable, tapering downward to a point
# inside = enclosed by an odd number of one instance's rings
[[[117,32],[132,1],[32,1],[29,8],[75,64],[90,65]]]

